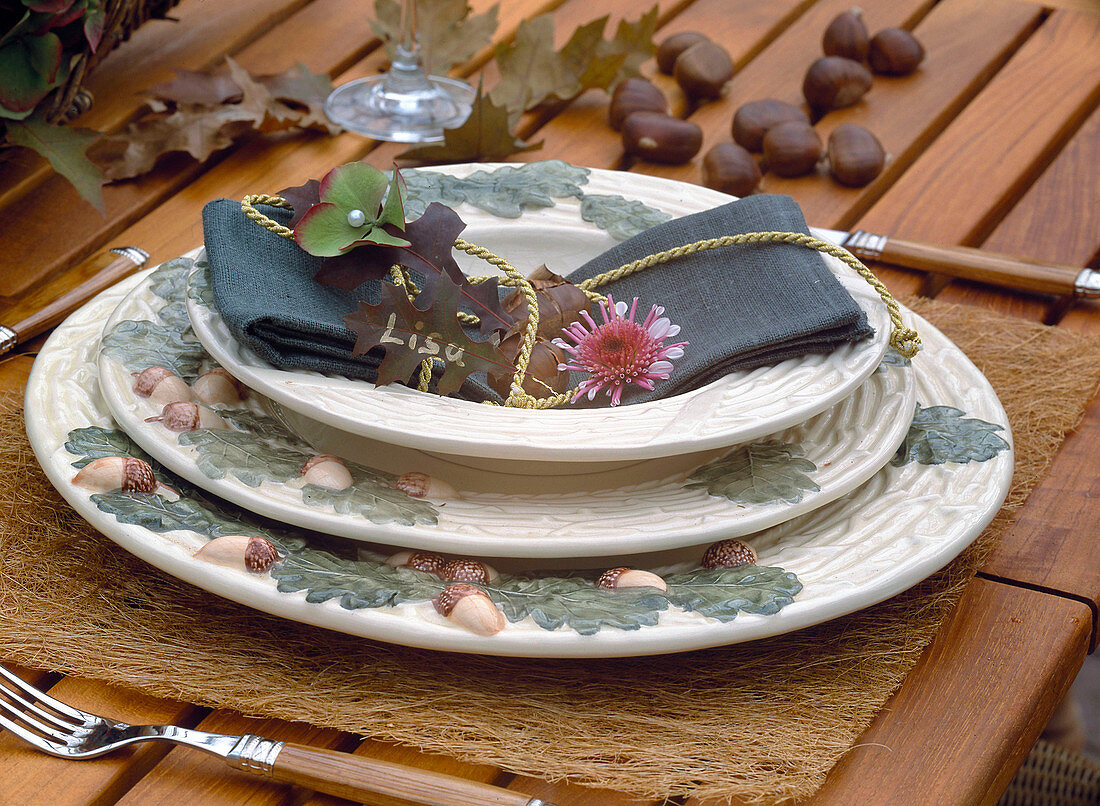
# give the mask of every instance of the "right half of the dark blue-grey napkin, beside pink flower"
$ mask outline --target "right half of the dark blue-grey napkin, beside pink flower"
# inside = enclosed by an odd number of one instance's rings
[[[674,246],[746,232],[809,234],[810,230],[802,210],[789,196],[748,196],[646,230],[588,261],[568,279],[581,283]],[[739,369],[831,353],[873,332],[867,314],[833,276],[822,255],[795,244],[761,243],[697,252],[597,290],[627,303],[637,297],[639,320],[650,306],[663,306],[664,316],[680,325],[680,334],[668,342],[689,343],[668,380],[652,391],[624,394],[624,402],[671,397]],[[598,317],[596,321],[601,321]]]

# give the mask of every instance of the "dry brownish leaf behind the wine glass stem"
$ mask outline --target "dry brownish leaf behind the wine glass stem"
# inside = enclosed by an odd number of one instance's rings
[[[375,0],[371,27],[386,43],[393,59],[402,41],[400,0]],[[498,5],[473,14],[466,0],[420,0],[417,3],[417,41],[425,69],[444,75],[493,42]]]

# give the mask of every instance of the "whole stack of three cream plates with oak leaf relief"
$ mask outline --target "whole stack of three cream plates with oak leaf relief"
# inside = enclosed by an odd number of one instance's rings
[[[485,166],[447,173],[477,170]],[[583,191],[543,197],[534,211],[504,203],[516,199],[521,170],[479,174],[487,177],[480,207],[455,206],[464,236],[520,267],[565,274],[614,243],[587,220],[586,200],[671,216],[728,201],[680,183],[572,170],[585,177]],[[507,183],[494,183],[502,172]],[[944,565],[992,518],[1012,474],[1004,411],[981,373],[910,312],[923,351],[909,362],[888,349],[884,306],[827,260],[867,311],[872,340],[649,404],[529,411],[274,368],[230,334],[197,250],[119,284],[57,329],[28,387],[28,430],[53,483],[109,538],[297,621],[529,656],[773,636],[880,601]],[[221,428],[173,431],[148,420],[165,401],[134,390],[134,373],[148,366],[190,382],[220,366],[248,394],[213,405],[208,416]],[[350,487],[301,476],[322,454],[342,457]],[[80,466],[107,456],[147,459],[178,500],[164,488],[74,484]],[[405,474],[428,477],[426,497],[395,488]],[[282,562],[255,573],[197,553],[234,534],[266,537]],[[754,563],[703,566],[707,548],[735,539]],[[403,550],[499,572],[482,588],[504,628],[481,634],[440,615],[432,599],[447,583],[387,564]],[[652,572],[667,589],[601,586],[616,567]]]

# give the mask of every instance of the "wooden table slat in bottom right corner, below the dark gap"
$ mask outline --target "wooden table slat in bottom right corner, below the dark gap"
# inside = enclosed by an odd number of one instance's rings
[[[1080,667],[1090,620],[1080,603],[975,579],[810,803],[997,803],[1069,688],[1066,665]]]

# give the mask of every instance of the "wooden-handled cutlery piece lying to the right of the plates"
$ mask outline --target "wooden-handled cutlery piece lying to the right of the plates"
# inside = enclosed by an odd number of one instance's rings
[[[1092,268],[1040,263],[969,246],[914,243],[862,230],[840,232],[813,228],[813,231],[823,241],[843,246],[861,261],[879,261],[892,266],[946,274],[1040,294],[1068,295],[1085,299],[1100,297],[1100,272]]]

